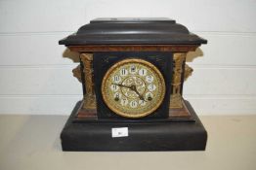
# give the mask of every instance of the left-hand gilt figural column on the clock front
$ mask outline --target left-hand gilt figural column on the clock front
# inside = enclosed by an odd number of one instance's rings
[[[81,61],[84,65],[84,78],[85,78],[85,89],[86,94],[84,95],[84,109],[96,109],[96,96],[94,91],[94,82],[93,82],[93,67],[92,67],[92,60],[93,54],[92,53],[81,53],[80,54]]]

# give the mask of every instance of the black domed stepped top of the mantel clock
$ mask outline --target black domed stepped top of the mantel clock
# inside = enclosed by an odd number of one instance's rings
[[[201,45],[207,41],[167,17],[96,18],[59,42],[81,45]]]

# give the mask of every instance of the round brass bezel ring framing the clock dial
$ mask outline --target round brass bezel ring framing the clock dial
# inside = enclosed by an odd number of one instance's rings
[[[107,78],[109,77],[109,75],[111,74],[111,72],[116,69],[117,67],[120,67],[121,65],[127,64],[127,63],[131,63],[131,62],[135,62],[135,63],[140,63],[140,64],[144,64],[145,66],[149,67],[150,69],[153,70],[153,72],[156,74],[157,78],[159,79],[159,81],[161,82],[161,88],[162,88],[162,93],[160,96],[159,101],[156,103],[156,105],[151,108],[148,112],[145,112],[143,114],[138,114],[138,115],[128,115],[126,113],[123,113],[119,110],[117,110],[116,108],[114,108],[113,106],[111,106],[108,101],[107,101],[107,95],[105,93],[105,86],[107,83]],[[132,119],[137,119],[137,118],[143,118],[146,116],[149,116],[149,114],[151,114],[152,112],[154,112],[163,102],[164,96],[165,96],[165,91],[166,91],[166,86],[165,86],[165,81],[164,78],[161,74],[161,72],[153,65],[151,64],[149,61],[146,61],[144,59],[139,59],[139,58],[128,58],[128,59],[123,59],[117,63],[115,63],[114,65],[112,65],[108,70],[107,73],[104,76],[103,79],[103,83],[102,83],[102,95],[103,95],[103,99],[105,101],[105,103],[107,104],[107,107],[113,111],[114,114],[117,114],[121,117],[125,117],[125,118],[132,118]]]

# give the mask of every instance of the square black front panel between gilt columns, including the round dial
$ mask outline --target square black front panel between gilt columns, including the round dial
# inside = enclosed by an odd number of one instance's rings
[[[172,56],[172,52],[95,52],[98,118],[168,118]]]

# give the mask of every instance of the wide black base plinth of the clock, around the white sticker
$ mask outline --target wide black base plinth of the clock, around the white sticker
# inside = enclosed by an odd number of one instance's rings
[[[203,151],[207,132],[192,110],[185,104],[192,120],[89,120],[77,121],[78,102],[61,134],[63,151]],[[111,129],[128,127],[128,136],[112,138]]]

